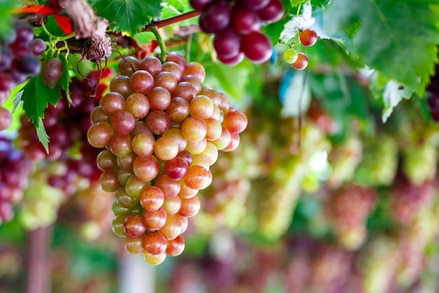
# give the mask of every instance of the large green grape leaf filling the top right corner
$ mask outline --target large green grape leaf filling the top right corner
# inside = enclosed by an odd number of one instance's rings
[[[323,15],[327,34],[348,32],[365,63],[421,93],[437,60],[436,0],[334,0]]]

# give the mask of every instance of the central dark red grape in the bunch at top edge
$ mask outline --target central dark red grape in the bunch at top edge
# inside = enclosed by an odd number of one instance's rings
[[[239,34],[255,32],[261,27],[261,18],[259,18],[256,11],[245,6],[234,7],[232,22],[234,29]]]

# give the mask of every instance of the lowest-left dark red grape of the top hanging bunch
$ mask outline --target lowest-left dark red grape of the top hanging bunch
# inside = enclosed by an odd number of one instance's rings
[[[218,32],[213,39],[213,47],[221,58],[232,58],[238,55],[241,47],[241,37],[236,34],[233,28]]]

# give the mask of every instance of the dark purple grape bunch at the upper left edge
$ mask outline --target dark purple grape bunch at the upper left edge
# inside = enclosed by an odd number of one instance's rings
[[[0,39],[0,130],[11,125],[11,113],[2,104],[9,98],[17,84],[25,82],[28,75],[39,74],[39,57],[46,50],[42,39],[34,39],[32,28],[19,20],[6,39]]]

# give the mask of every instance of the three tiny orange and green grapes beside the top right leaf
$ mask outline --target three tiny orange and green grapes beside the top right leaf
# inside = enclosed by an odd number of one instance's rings
[[[317,33],[311,29],[302,30],[299,34],[299,42],[300,44],[310,47],[316,44],[318,39]],[[308,66],[308,57],[305,53],[299,52],[295,50],[295,48],[291,47],[283,52],[283,60],[286,63],[290,63],[292,67],[295,67],[297,70],[304,70]]]

